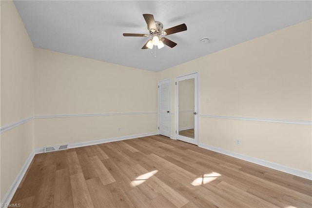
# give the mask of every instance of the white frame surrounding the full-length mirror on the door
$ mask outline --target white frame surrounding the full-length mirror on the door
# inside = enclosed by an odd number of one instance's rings
[[[192,79],[194,78],[194,112],[196,112],[196,115],[194,115],[194,140],[190,139],[188,137],[185,136],[181,136],[178,134],[179,132],[179,107],[178,107],[178,95],[179,95],[179,90],[178,90],[178,81],[181,81],[185,78],[185,80],[187,79]],[[199,144],[199,140],[198,140],[198,72],[193,72],[193,73],[189,73],[189,74],[184,74],[184,75],[180,75],[176,77],[176,85],[175,85],[175,127],[176,127],[176,139],[184,141],[184,142],[188,142],[188,143],[192,143],[194,145]]]

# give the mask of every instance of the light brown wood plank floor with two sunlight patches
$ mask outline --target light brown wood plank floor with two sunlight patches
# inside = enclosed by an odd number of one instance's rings
[[[37,154],[29,208],[311,208],[312,181],[162,136]]]

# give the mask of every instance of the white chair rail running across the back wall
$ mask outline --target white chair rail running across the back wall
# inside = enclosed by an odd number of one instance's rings
[[[64,117],[86,117],[86,116],[117,116],[117,115],[140,115],[140,114],[157,114],[156,111],[140,112],[120,112],[120,113],[86,113],[86,114],[59,114],[59,115],[39,115],[35,119],[64,118]]]

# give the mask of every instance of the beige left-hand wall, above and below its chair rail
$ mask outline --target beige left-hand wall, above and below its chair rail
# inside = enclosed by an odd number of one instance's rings
[[[1,126],[34,114],[34,54],[12,1],[1,4]],[[33,122],[1,133],[0,199],[34,148]]]

